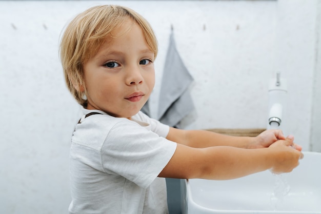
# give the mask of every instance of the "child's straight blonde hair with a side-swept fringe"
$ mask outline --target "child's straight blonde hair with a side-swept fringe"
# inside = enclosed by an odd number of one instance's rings
[[[117,5],[96,6],[78,14],[67,26],[60,45],[60,57],[67,87],[79,104],[86,107],[87,100],[83,65],[112,37],[113,31],[128,18],[138,24],[149,48],[157,55],[156,36],[145,18],[135,11]],[[84,87],[81,91],[79,87]]]

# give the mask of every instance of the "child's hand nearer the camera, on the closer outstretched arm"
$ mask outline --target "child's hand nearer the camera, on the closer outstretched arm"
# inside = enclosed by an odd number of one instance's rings
[[[269,146],[269,149],[273,149],[275,154],[275,162],[271,168],[273,173],[291,172],[299,165],[299,159],[303,159],[303,153],[298,148],[294,149],[294,147],[292,136]]]

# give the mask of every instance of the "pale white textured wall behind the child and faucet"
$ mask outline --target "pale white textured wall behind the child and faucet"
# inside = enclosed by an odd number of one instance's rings
[[[189,128],[265,128],[269,79],[281,70],[289,91],[285,132],[304,150],[318,141],[321,151],[317,0],[0,1],[0,213],[67,212],[70,136],[80,111],[64,83],[58,40],[73,16],[97,4],[131,7],[153,26],[154,115],[173,25],[195,79]]]

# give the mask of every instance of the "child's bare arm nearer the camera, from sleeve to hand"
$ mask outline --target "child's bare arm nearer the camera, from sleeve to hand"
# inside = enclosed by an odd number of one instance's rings
[[[290,147],[293,139],[279,140],[268,148],[243,149],[231,146],[193,148],[177,144],[173,157],[158,177],[235,179],[271,169],[290,172],[303,154]]]

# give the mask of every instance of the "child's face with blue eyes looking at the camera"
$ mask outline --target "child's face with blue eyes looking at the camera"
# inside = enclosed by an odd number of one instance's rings
[[[124,29],[131,29],[127,32]],[[128,20],[84,64],[88,109],[130,119],[146,103],[155,84],[154,53],[142,29]]]

